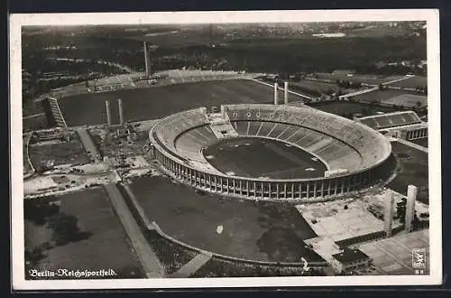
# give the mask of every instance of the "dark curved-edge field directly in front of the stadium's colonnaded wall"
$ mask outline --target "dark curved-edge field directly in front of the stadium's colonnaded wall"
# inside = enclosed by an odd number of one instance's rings
[[[292,204],[203,194],[162,176],[139,178],[131,187],[146,216],[190,246],[260,261],[322,260],[304,247],[316,234]]]

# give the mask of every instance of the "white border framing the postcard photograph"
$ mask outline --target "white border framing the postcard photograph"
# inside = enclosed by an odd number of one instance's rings
[[[114,23],[113,23],[114,20]],[[128,280],[26,281],[24,278],[22,56],[24,25],[164,24],[164,23],[298,23],[427,21],[428,39],[428,166],[430,275],[306,276],[256,278],[183,278]],[[439,24],[437,9],[315,10],[248,12],[168,12],[10,15],[11,111],[11,242],[14,290],[290,287],[333,285],[414,285],[442,282],[441,135]]]

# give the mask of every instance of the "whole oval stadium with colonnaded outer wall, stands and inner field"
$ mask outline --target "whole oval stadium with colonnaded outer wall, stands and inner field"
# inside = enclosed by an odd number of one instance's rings
[[[310,107],[199,107],[163,118],[149,137],[175,179],[245,199],[325,200],[367,189],[394,170],[387,138]]]

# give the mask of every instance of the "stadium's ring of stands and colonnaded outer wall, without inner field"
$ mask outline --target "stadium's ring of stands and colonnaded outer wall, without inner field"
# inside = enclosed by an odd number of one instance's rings
[[[200,107],[168,116],[149,133],[153,157],[180,182],[247,199],[325,200],[384,182],[394,170],[391,144],[368,126],[309,107],[224,105],[224,122],[235,135],[212,128],[215,117]],[[215,118],[215,120],[212,120]],[[212,121],[212,122],[209,122]],[[225,132],[223,132],[225,133]],[[252,177],[222,172],[204,151],[221,139],[258,137],[298,147],[327,167],[324,177]]]

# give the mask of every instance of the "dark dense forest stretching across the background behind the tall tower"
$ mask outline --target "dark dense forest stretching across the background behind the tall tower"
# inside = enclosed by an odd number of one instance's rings
[[[192,35],[193,38],[196,35]],[[244,38],[225,42],[164,43],[152,51],[152,70],[195,68],[203,70],[246,70],[280,74],[331,72],[337,69],[373,74],[425,74],[426,69],[379,66],[381,61],[426,59],[424,36],[381,36],[340,38]],[[83,59],[82,62],[56,58]],[[108,76],[124,69],[99,61],[114,62],[143,71],[143,42],[133,38],[83,36],[60,33],[23,35],[23,70],[30,79],[23,84],[34,95],[86,79],[88,73]],[[46,73],[57,73],[53,79]],[[30,96],[27,96],[30,98]]]

